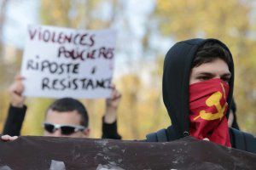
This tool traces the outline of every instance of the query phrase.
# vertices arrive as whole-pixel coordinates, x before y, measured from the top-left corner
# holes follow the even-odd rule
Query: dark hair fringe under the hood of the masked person
[[[204,63],[212,62],[215,59],[223,59],[227,65],[230,65],[231,55],[221,44],[215,41],[208,41],[198,49],[192,68]]]

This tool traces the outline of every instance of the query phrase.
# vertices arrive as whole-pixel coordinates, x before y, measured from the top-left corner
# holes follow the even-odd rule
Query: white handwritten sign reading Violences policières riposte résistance
[[[113,30],[28,26],[21,66],[24,95],[110,97],[115,39]]]

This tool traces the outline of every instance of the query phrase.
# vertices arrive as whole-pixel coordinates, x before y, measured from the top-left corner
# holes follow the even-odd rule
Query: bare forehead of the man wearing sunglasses
[[[81,115],[78,111],[52,111],[49,110],[45,117],[45,122],[55,124],[70,124],[79,125],[81,122]]]

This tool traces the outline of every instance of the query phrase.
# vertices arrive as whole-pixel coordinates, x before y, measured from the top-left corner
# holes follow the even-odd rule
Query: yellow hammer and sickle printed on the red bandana
[[[222,88],[223,88],[223,84]],[[224,90],[224,88],[223,88]],[[214,94],[212,94],[206,101],[206,104],[208,107],[212,107],[215,106],[217,109],[217,113],[211,113],[211,112],[207,112],[207,111],[200,111],[199,116],[196,116],[194,118],[194,121],[196,119],[198,119],[199,117],[201,117],[201,119],[207,120],[207,121],[212,121],[212,120],[216,120],[219,118],[219,120],[221,120],[221,118],[224,116],[224,111],[226,109],[226,107],[228,106],[227,102],[225,103],[224,107],[222,107],[220,105],[220,99],[222,98],[222,94],[220,92],[215,92]]]

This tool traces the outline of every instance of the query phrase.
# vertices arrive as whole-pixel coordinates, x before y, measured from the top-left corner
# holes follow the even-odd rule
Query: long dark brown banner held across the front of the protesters
[[[0,140],[3,169],[255,169],[256,155],[186,137],[166,143],[19,137]]]

